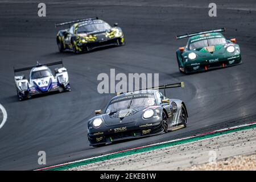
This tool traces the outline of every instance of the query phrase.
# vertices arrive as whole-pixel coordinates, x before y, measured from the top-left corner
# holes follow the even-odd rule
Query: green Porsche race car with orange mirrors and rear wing
[[[236,39],[227,40],[220,33],[223,31],[225,28],[176,36],[176,39],[189,38],[187,46],[176,51],[180,72],[187,74],[241,64]]]

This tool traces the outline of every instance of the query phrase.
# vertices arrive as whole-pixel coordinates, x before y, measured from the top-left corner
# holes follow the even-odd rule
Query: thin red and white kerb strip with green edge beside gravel
[[[68,163],[63,163],[63,164],[57,164],[57,165],[55,165],[55,166],[50,166],[50,167],[35,169],[35,171],[47,170],[47,169],[51,169],[51,168],[55,168],[55,167],[65,166],[65,165],[72,164],[72,163],[83,162],[83,161],[85,161],[85,160],[102,158],[102,157],[104,157],[104,156],[109,156],[109,155],[113,155],[113,154],[118,154],[118,153],[121,153],[121,152],[132,151],[132,150],[138,150],[138,149],[140,149],[140,148],[146,148],[146,147],[156,146],[156,145],[159,145],[159,144],[170,143],[170,142],[176,142],[176,141],[179,141],[179,140],[184,140],[184,139],[190,139],[190,138],[200,137],[200,136],[204,136],[204,135],[208,135],[208,134],[220,133],[220,132],[223,132],[223,131],[238,129],[238,128],[240,128],[240,127],[251,126],[251,125],[256,125],[256,122],[250,122],[250,123],[246,123],[246,124],[244,124],[244,125],[238,125],[238,126],[228,127],[228,128],[225,128],[225,129],[214,130],[214,131],[210,131],[210,132],[203,133],[203,134],[193,135],[193,136],[191,136],[191,137],[179,138],[179,139],[175,139],[175,140],[169,140],[169,141],[166,141],[166,142],[159,142],[159,143],[149,144],[149,145],[146,145],[146,146],[141,146],[141,147],[136,147],[136,148],[130,148],[130,149],[127,149],[127,150],[121,150],[121,151],[117,151],[117,152],[112,152],[112,153],[109,153],[109,154],[100,155],[100,156],[95,156],[95,157],[92,157],[92,158],[86,158],[86,159],[76,160],[76,161],[73,161],[73,162],[68,162]]]

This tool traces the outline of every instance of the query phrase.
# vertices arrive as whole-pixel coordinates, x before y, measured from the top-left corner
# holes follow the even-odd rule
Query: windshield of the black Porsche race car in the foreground
[[[155,98],[152,95],[151,97],[125,97],[121,100],[111,101],[109,106],[106,109],[106,113],[113,113],[122,109],[131,109],[134,107],[143,107],[143,106],[153,106],[155,105]]]

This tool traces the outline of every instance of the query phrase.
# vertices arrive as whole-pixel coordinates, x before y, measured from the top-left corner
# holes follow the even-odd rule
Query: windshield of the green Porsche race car
[[[216,46],[220,44],[226,44],[226,39],[224,38],[214,38],[214,39],[205,39],[205,40],[200,40],[195,43],[191,43],[189,45],[189,49],[199,49],[203,47],[208,47],[208,46]]]

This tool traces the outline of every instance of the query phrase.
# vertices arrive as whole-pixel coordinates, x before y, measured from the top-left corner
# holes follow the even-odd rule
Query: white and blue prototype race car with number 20
[[[49,66],[52,65],[62,65],[62,67],[55,68],[55,74],[53,75],[51,69],[49,69]],[[31,70],[28,79],[24,75],[16,76],[17,72],[27,70]],[[14,80],[20,101],[38,94],[71,91],[68,72],[63,67],[62,61],[48,64],[38,63],[35,67],[14,69]]]

